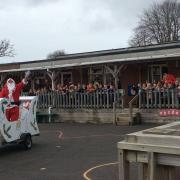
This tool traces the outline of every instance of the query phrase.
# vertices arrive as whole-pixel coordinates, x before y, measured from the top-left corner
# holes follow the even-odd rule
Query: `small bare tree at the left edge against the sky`
[[[0,41],[0,57],[4,56],[14,56],[14,47],[10,44],[10,41],[6,39]]]

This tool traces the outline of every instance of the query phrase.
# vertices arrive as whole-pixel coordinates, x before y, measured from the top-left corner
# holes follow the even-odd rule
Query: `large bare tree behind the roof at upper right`
[[[166,0],[162,4],[154,3],[145,10],[130,46],[146,46],[162,44],[180,39],[180,3],[176,0]]]

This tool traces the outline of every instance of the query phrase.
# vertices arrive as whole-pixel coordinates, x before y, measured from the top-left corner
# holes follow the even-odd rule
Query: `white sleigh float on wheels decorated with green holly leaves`
[[[0,98],[0,144],[22,143],[25,149],[32,147],[32,136],[39,135],[36,121],[36,96],[21,96],[19,118],[8,121],[6,118],[7,99]]]

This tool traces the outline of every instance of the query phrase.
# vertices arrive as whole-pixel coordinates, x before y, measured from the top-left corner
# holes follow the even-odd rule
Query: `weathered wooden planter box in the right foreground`
[[[118,142],[119,180],[129,180],[129,163],[139,164],[138,180],[180,179],[180,122],[139,131]]]

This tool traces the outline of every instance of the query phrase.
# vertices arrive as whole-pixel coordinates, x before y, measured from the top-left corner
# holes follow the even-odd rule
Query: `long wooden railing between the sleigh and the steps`
[[[94,93],[68,93],[59,92],[39,93],[37,108],[123,108],[123,90],[116,92],[94,92]]]

